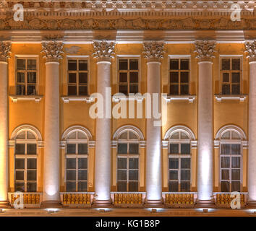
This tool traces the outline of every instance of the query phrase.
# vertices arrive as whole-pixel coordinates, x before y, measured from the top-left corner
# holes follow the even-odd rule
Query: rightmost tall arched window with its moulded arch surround
[[[216,139],[220,141],[221,192],[241,191],[244,131],[238,126],[224,126],[217,132]]]

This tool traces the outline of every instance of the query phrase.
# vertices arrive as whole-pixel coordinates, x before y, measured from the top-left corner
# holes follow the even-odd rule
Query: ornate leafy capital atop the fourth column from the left
[[[164,42],[162,41],[148,41],[143,43],[144,58],[148,58],[148,62],[161,62],[164,53]]]

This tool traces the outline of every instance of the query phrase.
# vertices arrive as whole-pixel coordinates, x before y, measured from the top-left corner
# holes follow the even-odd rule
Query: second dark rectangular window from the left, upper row
[[[88,95],[88,60],[67,61],[68,95]]]

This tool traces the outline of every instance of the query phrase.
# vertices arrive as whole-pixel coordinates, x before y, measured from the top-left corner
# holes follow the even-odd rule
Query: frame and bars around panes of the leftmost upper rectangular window
[[[17,60],[18,59],[25,59],[26,60],[26,69],[22,71],[17,70]],[[27,95],[27,59],[35,59],[36,61],[36,69],[33,72],[36,72],[36,83],[35,83],[35,95]],[[20,95],[23,97],[33,97],[39,95],[39,56],[38,55],[15,55],[15,63],[14,63],[14,71],[15,71],[15,95],[17,95],[17,73],[18,72],[25,72],[25,95]],[[32,70],[31,70],[32,71]],[[28,71],[30,72],[30,71]]]

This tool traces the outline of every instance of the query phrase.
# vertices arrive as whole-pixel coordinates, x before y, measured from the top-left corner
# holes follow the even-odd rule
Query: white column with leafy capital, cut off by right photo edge
[[[256,206],[256,40],[245,43],[249,53],[249,154],[248,154],[248,204]]]

